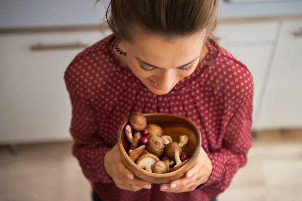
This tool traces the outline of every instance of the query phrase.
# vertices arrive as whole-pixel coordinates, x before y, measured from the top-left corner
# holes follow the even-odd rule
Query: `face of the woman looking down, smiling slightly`
[[[163,95],[194,72],[203,43],[202,34],[173,41],[154,36],[125,42],[124,49],[132,72],[150,91]]]

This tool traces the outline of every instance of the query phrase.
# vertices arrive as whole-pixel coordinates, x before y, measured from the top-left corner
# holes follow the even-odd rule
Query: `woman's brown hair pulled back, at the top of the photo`
[[[218,0],[111,0],[107,22],[117,38],[131,41],[131,28],[168,39],[206,31],[217,24]]]

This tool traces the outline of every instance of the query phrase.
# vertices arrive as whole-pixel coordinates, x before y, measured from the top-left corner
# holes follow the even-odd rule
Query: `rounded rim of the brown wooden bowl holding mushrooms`
[[[176,117],[176,118],[180,118],[180,119],[182,119],[182,120],[184,120],[184,121],[187,121],[187,122],[189,122],[190,124],[192,124],[192,125],[194,126],[195,130],[197,131],[197,134],[198,134],[197,140],[198,140],[198,142],[197,142],[197,148],[196,148],[194,154],[190,157],[189,160],[187,160],[186,164],[188,164],[189,161],[190,161],[192,158],[195,158],[195,160],[197,159],[197,156],[198,156],[198,154],[199,154],[199,153],[197,153],[197,152],[200,151],[201,140],[202,140],[202,139],[201,139],[200,130],[199,130],[198,126],[195,124],[195,122],[193,122],[192,120],[190,120],[190,119],[188,119],[188,118],[186,118],[186,117],[184,117],[184,116],[173,115],[173,114],[169,114],[169,113],[142,113],[142,115],[145,116],[145,117],[146,117],[146,116],[170,116],[170,117]],[[136,165],[136,163],[133,162],[133,161],[130,159],[129,155],[127,154],[127,152],[126,152],[125,149],[123,148],[123,144],[122,144],[122,140],[121,140],[122,129],[127,125],[127,122],[128,122],[128,121],[129,121],[129,117],[128,117],[126,120],[124,120],[124,121],[122,122],[122,124],[120,125],[120,127],[119,127],[119,129],[118,129],[118,139],[117,139],[118,149],[120,150],[120,153],[121,153],[122,156],[125,158],[125,160],[128,161],[128,163],[130,163],[131,165],[133,165],[133,166],[135,167],[135,169],[137,169],[138,171],[140,171],[140,172],[142,172],[142,173],[144,173],[144,174],[146,174],[146,175],[148,175],[148,176],[150,176],[150,177],[158,177],[159,175],[161,175],[161,178],[166,178],[166,177],[174,176],[174,175],[176,175],[176,174],[178,174],[178,173],[181,173],[182,171],[185,170],[186,164],[184,164],[181,168],[179,168],[179,169],[177,169],[177,170],[175,170],[175,171],[173,171],[173,172],[168,172],[168,173],[153,173],[153,172],[148,172],[148,171],[146,171],[146,170],[144,170],[144,169],[138,167],[138,166]],[[196,155],[197,155],[197,156],[196,156]]]

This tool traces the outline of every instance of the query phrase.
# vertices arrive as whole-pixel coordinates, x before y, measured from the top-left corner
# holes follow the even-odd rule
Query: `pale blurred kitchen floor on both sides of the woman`
[[[0,201],[88,201],[90,185],[71,143],[0,147]],[[302,200],[302,130],[261,132],[223,200]]]

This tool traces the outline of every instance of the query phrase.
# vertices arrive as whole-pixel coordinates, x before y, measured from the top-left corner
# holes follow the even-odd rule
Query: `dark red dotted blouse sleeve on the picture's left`
[[[72,68],[67,68],[64,80],[72,108],[69,131],[74,140],[73,155],[78,159],[84,175],[90,182],[113,183],[104,167],[104,156],[110,148],[105,146],[98,134],[98,123],[89,96],[85,86],[79,81],[80,76],[77,77],[76,73],[73,73],[76,70]],[[78,81],[75,82],[75,79]]]

